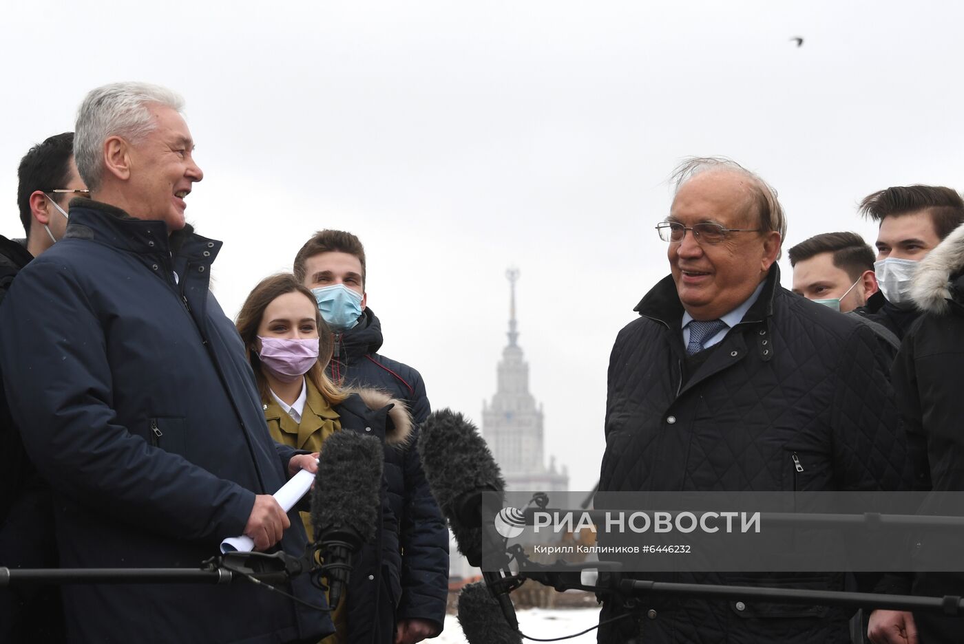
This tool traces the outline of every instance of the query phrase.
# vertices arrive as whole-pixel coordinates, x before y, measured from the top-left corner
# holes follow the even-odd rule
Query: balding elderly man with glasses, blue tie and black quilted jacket
[[[787,225],[776,192],[726,159],[691,159],[675,180],[656,226],[671,274],[636,306],[610,358],[600,491],[905,488],[886,356],[866,326],[780,286]],[[844,589],[843,574],[756,581]],[[601,622],[620,615],[631,618],[604,624],[600,642],[849,641],[850,611],[835,606],[608,599]]]

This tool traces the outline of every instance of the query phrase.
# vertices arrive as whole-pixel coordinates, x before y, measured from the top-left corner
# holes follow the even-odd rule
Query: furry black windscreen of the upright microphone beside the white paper
[[[382,442],[348,429],[325,439],[311,493],[311,525],[317,541],[331,529],[351,529],[365,543],[375,538],[382,513]]]

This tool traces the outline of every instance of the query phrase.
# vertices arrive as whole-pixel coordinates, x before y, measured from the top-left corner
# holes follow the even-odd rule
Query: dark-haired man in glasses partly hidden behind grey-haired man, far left
[[[17,167],[16,203],[25,240],[0,236],[0,301],[13,278],[64,236],[67,202],[87,193],[73,162],[73,132],[34,145]],[[37,471],[13,425],[0,389],[0,566],[57,566],[50,487]],[[64,616],[56,586],[11,588],[0,595],[0,641],[64,639]]]

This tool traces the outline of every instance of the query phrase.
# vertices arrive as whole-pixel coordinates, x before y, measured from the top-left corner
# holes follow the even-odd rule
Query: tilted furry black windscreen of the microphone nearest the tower
[[[448,519],[459,551],[466,555],[480,552],[482,530],[477,525],[466,525],[460,516],[460,505],[465,504],[469,493],[505,490],[505,480],[492,451],[478,429],[451,409],[429,414],[419,431],[422,469],[432,496]]]

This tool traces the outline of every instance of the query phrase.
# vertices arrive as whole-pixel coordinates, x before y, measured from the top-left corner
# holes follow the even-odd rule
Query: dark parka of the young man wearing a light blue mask
[[[415,369],[378,353],[382,324],[365,308],[354,328],[335,335],[329,374],[345,386],[375,387],[403,400],[415,425],[431,408],[425,383]],[[417,427],[405,449],[388,447],[385,475],[388,500],[399,518],[402,557],[402,597],[396,620],[424,619],[442,630],[448,594],[448,528],[438,503],[429,492],[416,445]]]

